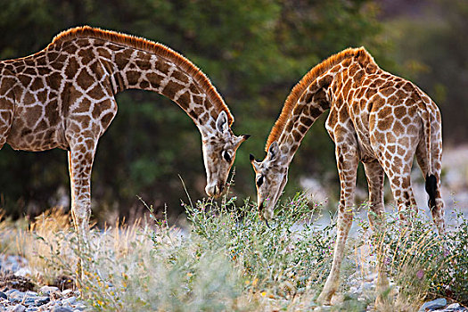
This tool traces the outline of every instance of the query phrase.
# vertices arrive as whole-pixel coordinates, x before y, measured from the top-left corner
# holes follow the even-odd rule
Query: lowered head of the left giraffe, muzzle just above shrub
[[[236,136],[228,125],[225,111],[216,120],[214,134],[202,140],[203,161],[207,172],[205,192],[218,198],[226,191],[226,180],[233,166],[235,151],[250,135]]]

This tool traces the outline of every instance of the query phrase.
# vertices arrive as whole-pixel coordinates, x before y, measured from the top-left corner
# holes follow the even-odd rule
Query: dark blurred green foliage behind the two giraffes
[[[291,87],[318,62],[365,45],[384,70],[412,79],[439,104],[444,143],[468,134],[468,3],[464,0],[2,0],[0,59],[35,53],[79,25],[146,37],[183,53],[212,80],[234,114],[234,132],[252,135],[235,160],[238,198],[255,196],[248,154],[264,156],[270,128]],[[117,95],[119,113],[98,145],[92,177],[99,222],[144,211],[144,201],[181,212],[184,180],[204,196],[201,139],[193,122],[159,94]],[[290,169],[286,195],[315,177],[338,196],[333,144],[324,116],[309,131]],[[0,207],[13,217],[70,205],[65,151],[0,156]],[[365,185],[364,175],[359,184]]]

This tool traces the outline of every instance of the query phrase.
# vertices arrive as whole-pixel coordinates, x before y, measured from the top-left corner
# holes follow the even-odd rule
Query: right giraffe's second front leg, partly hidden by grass
[[[383,206],[383,181],[385,174],[381,164],[377,160],[365,163],[364,168],[369,186],[369,223],[374,233],[380,237],[385,232],[385,209]],[[389,288],[385,258],[385,254],[380,255],[378,258],[377,294],[382,294],[383,291]]]

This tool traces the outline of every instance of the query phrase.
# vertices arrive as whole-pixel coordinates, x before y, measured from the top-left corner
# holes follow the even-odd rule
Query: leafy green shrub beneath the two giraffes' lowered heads
[[[242,271],[246,290],[265,292],[271,297],[289,298],[306,291],[308,285],[324,283],[330,269],[335,226],[320,229],[314,225],[318,206],[308,207],[308,199],[298,193],[275,213],[267,227],[259,220],[257,208],[235,198],[197,201],[185,205],[192,232],[209,250],[224,250]]]

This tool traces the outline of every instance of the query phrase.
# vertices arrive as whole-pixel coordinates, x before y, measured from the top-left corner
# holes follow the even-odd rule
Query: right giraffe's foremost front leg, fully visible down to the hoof
[[[352,144],[337,144],[336,157],[340,175],[341,194],[338,207],[337,237],[333,250],[333,264],[326,279],[324,290],[317,298],[321,304],[330,304],[340,283],[340,268],[346,239],[353,220],[354,191],[357,176],[357,148]]]

